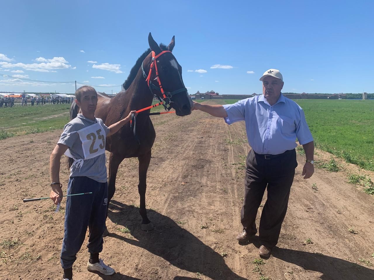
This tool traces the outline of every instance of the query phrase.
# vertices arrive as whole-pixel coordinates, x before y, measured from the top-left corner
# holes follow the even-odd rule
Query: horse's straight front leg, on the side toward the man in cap
[[[151,151],[138,157],[139,159],[139,185],[138,191],[140,195],[140,209],[139,213],[142,217],[141,229],[144,231],[153,230],[153,224],[147,217],[147,210],[145,209],[145,190],[147,189],[147,170],[151,161]]]

